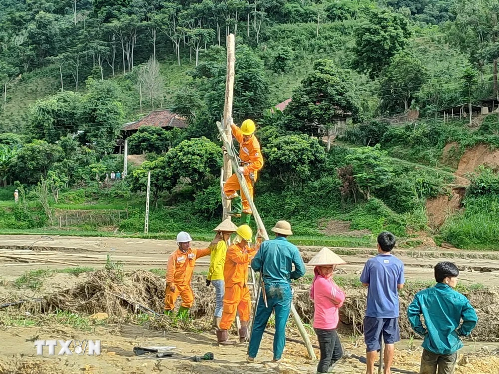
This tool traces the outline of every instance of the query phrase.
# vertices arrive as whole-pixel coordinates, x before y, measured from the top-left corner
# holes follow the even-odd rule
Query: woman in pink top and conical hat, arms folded
[[[331,373],[331,369],[343,356],[336,327],[345,293],[334,283],[333,271],[336,265],[345,263],[329,248],[322,248],[307,264],[315,266],[310,297],[314,301],[313,327],[320,347],[317,374]]]

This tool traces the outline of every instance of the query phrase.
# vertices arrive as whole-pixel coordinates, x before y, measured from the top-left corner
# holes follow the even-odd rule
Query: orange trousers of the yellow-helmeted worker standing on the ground
[[[241,322],[250,320],[251,312],[251,294],[248,286],[235,284],[225,288],[224,294],[224,311],[222,312],[222,320],[220,321],[221,330],[229,330],[236,312],[239,313]]]

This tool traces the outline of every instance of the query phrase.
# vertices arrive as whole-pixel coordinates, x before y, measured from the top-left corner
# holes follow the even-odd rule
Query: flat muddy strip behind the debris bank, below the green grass
[[[198,248],[207,245],[193,242]],[[26,271],[43,268],[99,268],[105,264],[108,254],[112,260],[123,262],[125,270],[165,268],[169,254],[175,249],[173,240],[0,235],[0,278],[13,279]],[[306,261],[320,248],[300,247],[300,250]],[[366,260],[375,253],[373,248],[339,248],[337,252],[347,261],[347,265],[341,267],[341,274],[352,277],[358,276]],[[499,286],[499,252],[423,247],[397,249],[394,253],[405,264],[406,279],[433,281],[432,267],[442,258],[452,258],[462,271],[463,282]],[[197,264],[197,271],[207,270],[209,257],[199,259]]]

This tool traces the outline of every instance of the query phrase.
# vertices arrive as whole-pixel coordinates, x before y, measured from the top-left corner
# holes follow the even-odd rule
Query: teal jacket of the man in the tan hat
[[[265,285],[290,284],[291,279],[298,279],[305,275],[305,264],[300,251],[283,237],[261,243],[260,250],[251,262],[251,267],[254,271],[262,272]]]

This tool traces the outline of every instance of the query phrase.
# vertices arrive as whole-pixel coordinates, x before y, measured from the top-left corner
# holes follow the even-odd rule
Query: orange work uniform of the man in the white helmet
[[[182,306],[192,307],[194,303],[194,293],[191,288],[191,278],[196,260],[210,254],[210,248],[193,249],[182,252],[179,248],[168,258],[166,268],[166,289],[165,289],[165,310],[173,310],[177,298],[182,298]],[[174,285],[175,291],[170,287]]]

